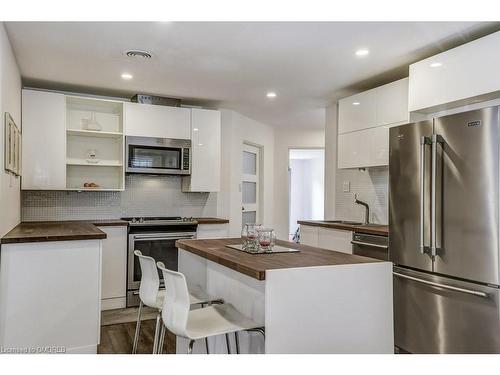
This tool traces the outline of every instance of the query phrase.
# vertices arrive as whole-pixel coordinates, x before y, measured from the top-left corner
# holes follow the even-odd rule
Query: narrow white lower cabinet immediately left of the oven
[[[127,295],[127,227],[101,226],[107,237],[102,240],[101,309],[126,306]]]

